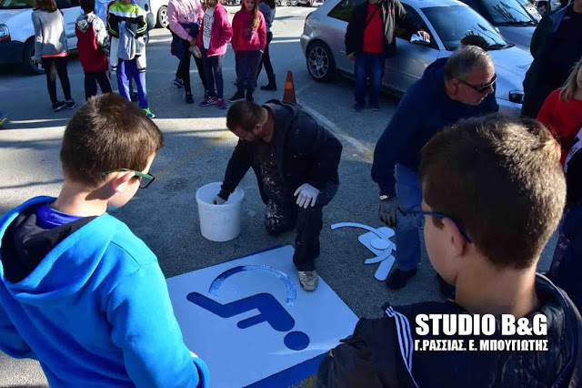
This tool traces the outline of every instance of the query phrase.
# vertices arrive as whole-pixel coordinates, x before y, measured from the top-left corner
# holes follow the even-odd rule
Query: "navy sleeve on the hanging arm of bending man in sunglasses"
[[[409,148],[410,139],[422,126],[421,102],[413,93],[406,93],[396,108],[396,113],[376,143],[374,163],[372,164],[372,180],[380,187],[380,194],[388,197],[396,196],[396,178],[394,168],[400,155],[414,152]]]

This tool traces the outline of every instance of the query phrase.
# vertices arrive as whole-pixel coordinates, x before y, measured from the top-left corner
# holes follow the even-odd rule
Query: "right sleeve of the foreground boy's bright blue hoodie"
[[[157,261],[141,266],[115,286],[107,319],[136,386],[208,386],[206,364],[186,348]]]

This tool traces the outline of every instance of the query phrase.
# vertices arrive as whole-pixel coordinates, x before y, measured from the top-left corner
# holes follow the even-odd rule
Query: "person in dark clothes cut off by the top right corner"
[[[582,56],[582,0],[544,15],[531,38],[534,56],[524,79],[521,114],[536,118],[547,96],[562,87]]]

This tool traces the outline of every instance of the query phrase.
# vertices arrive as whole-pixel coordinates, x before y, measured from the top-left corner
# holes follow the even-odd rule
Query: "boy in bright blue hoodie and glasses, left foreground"
[[[0,350],[38,360],[52,387],[206,387],[156,256],[117,209],[146,189],[164,138],[123,97],[89,99],[65,129],[58,198],[0,220]]]

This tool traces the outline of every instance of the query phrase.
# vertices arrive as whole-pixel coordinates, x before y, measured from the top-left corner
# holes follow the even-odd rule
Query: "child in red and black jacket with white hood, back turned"
[[[85,100],[97,94],[97,83],[101,93],[112,91],[107,77],[107,54],[109,54],[109,37],[103,21],[95,15],[95,0],[81,0],[81,9],[85,15],[76,19],[76,48],[79,52],[81,66],[85,71]]]

